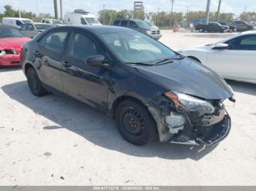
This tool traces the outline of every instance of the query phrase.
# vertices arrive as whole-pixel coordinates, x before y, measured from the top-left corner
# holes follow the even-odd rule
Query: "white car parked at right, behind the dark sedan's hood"
[[[177,52],[203,63],[225,79],[256,84],[256,31],[246,31],[214,44]]]

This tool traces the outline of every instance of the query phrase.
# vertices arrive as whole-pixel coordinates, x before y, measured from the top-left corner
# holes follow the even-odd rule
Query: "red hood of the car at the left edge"
[[[17,51],[20,51],[21,45],[23,45],[24,42],[28,42],[29,38],[27,37],[21,37],[21,38],[0,38],[0,47],[4,50],[12,49],[14,48]]]

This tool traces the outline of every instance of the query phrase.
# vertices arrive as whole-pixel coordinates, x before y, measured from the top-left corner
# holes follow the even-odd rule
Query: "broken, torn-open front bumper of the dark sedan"
[[[165,98],[148,105],[157,122],[159,141],[175,144],[214,145],[230,132],[230,116],[224,106],[213,113],[198,111],[178,112]]]

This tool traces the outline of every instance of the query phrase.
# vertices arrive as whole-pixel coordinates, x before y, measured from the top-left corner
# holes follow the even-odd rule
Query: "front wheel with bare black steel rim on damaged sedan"
[[[116,109],[116,125],[121,136],[135,145],[145,145],[157,138],[157,125],[146,106],[125,100]]]

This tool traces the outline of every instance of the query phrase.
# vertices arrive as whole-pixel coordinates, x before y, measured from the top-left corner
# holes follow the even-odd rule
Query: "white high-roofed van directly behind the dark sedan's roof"
[[[64,15],[64,23],[67,25],[102,25],[94,15],[83,9],[75,9]]]

